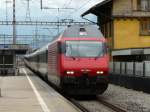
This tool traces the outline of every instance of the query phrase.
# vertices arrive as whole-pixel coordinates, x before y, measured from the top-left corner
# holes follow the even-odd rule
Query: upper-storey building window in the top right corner
[[[150,11],[150,0],[138,0],[138,9],[141,11]]]

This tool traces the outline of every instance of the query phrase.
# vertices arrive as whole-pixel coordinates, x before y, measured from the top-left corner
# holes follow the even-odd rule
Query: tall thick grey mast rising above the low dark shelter
[[[16,44],[16,1],[13,0],[13,44]]]

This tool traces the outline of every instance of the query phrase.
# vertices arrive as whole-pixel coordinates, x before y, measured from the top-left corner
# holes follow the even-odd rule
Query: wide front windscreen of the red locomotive
[[[101,57],[104,55],[103,45],[97,41],[66,41],[66,56]]]

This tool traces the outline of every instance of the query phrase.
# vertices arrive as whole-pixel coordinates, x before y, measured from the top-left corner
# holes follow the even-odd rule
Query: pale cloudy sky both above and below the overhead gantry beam
[[[0,21],[6,20],[6,0],[0,0]],[[12,20],[12,1],[7,4],[8,20]],[[73,8],[70,10],[60,9],[40,9],[40,0],[30,0],[30,14],[31,20],[39,21],[57,21],[61,19],[74,19],[75,21],[83,21],[80,15],[88,10],[90,7],[103,0],[42,0],[43,7],[49,8]],[[27,0],[16,0],[16,20],[25,20],[27,12]],[[90,19],[95,20],[95,16],[90,16]],[[38,27],[39,34],[49,34],[50,32],[44,30],[43,27]],[[61,29],[63,30],[63,29]],[[35,26],[33,27],[19,27],[17,26],[17,34],[33,34]],[[0,34],[12,34],[12,27],[0,26]],[[54,34],[55,35],[55,34]]]

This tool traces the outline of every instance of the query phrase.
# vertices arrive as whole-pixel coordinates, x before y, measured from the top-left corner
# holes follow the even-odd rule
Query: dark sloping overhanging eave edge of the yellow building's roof
[[[111,2],[111,1],[112,1],[112,0],[104,0],[104,1],[102,1],[102,2],[100,2],[100,3],[98,3],[98,4],[96,4],[95,6],[91,7],[89,10],[87,10],[86,12],[84,12],[81,16],[83,17],[83,16],[85,16],[85,15],[87,15],[87,14],[89,14],[89,13],[92,13],[96,8],[101,7],[101,6],[103,6],[103,5],[105,5],[106,3]]]

